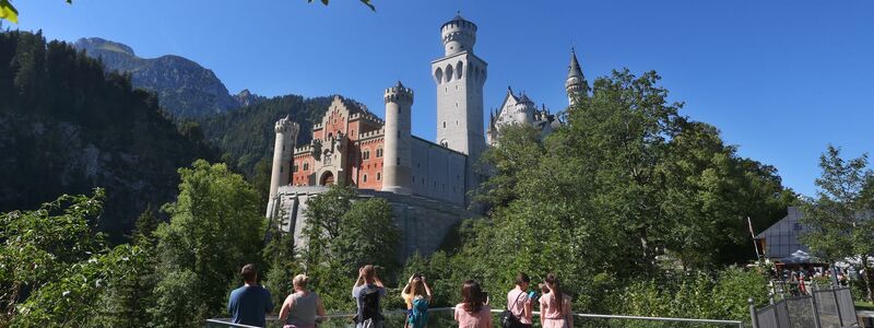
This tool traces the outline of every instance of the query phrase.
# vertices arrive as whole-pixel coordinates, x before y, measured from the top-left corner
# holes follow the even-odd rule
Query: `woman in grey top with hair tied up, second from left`
[[[285,297],[280,309],[283,328],[316,328],[316,315],[324,316],[324,305],[318,294],[307,290],[309,277],[297,274],[292,280],[294,292]]]

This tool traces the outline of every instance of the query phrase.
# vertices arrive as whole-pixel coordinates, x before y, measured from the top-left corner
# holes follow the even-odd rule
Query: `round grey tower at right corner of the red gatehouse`
[[[411,108],[413,91],[398,85],[386,89],[386,134],[382,155],[382,191],[412,192]]]

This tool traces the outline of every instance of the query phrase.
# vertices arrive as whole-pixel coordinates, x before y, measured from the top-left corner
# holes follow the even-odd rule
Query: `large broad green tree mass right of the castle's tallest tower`
[[[680,115],[659,79],[627,70],[598,79],[568,109],[569,125],[543,140],[530,127],[501,127],[483,156],[493,174],[479,199],[489,215],[465,234],[453,270],[491,291],[511,288],[518,271],[556,272],[577,308],[604,312],[640,277],[749,259],[745,218],[772,222],[794,194],[714,127]]]

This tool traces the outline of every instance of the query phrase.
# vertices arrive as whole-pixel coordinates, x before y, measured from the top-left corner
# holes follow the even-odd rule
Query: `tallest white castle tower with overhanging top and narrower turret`
[[[479,185],[473,164],[485,150],[483,84],[487,63],[473,55],[476,24],[457,15],[440,27],[445,56],[432,61],[437,83],[437,143],[468,155],[466,190]]]

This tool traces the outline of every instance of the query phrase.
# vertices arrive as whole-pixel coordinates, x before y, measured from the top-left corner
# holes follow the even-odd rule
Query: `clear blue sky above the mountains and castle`
[[[12,2],[22,30],[180,55],[232,93],[339,93],[382,115],[382,90],[401,80],[416,92],[413,131],[430,140],[429,62],[442,54],[440,24],[461,10],[489,63],[486,108],[508,85],[566,106],[576,46],[590,80],[623,67],[658,71],[684,115],[717,126],[799,192],[815,192],[827,144],[847,156],[874,150],[874,1],[374,0],[377,12],[356,0]]]

